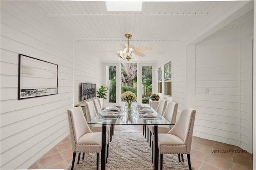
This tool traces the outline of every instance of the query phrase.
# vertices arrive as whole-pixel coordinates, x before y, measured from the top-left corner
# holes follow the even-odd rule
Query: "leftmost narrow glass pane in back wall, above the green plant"
[[[109,102],[116,103],[116,66],[108,67]]]

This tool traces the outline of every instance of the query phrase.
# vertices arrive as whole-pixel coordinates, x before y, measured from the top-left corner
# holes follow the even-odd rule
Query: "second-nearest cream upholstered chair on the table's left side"
[[[86,114],[88,115],[88,117],[87,117],[88,121],[92,120],[92,118],[94,118],[98,114],[96,112],[96,109],[94,107],[94,103],[92,101],[86,102],[85,103],[85,108],[86,108]],[[100,124],[90,125],[90,129],[93,132],[102,132],[102,125],[100,125]],[[110,141],[112,141],[111,125],[107,125],[106,131],[108,132],[108,134],[110,134],[109,139],[110,139]]]

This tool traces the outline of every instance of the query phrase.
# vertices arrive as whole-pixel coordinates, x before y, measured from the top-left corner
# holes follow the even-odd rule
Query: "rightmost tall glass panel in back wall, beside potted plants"
[[[142,103],[149,103],[152,94],[152,66],[142,66]]]

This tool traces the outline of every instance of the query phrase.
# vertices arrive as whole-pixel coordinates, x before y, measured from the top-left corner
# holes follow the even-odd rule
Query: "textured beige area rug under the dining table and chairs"
[[[79,164],[77,164],[77,158],[78,153],[76,154],[74,170],[96,169],[96,153],[85,153],[84,160],[82,160],[81,154]],[[142,132],[115,131],[112,142],[110,142],[109,145],[109,156],[108,163],[106,164],[106,170],[154,170],[154,164],[151,162],[151,148],[149,147],[147,139],[142,135]],[[71,169],[71,164],[72,162],[70,162],[66,170]],[[163,169],[189,169],[187,156],[184,155],[184,162],[179,162],[177,154],[164,154]]]

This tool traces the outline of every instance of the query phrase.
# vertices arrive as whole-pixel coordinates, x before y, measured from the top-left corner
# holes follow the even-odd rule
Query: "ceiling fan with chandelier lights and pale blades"
[[[132,53],[134,55],[138,55],[140,57],[144,57],[145,55],[139,51],[152,50],[152,47],[134,47],[129,44],[129,39],[131,39],[132,35],[125,34],[124,37],[127,38],[127,44],[121,44],[123,50],[117,51],[117,58],[122,58],[123,60],[130,60],[132,58]]]

